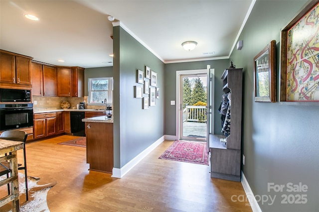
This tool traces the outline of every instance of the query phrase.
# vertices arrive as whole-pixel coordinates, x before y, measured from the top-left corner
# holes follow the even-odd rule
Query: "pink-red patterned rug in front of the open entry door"
[[[206,142],[176,140],[159,158],[208,166]]]

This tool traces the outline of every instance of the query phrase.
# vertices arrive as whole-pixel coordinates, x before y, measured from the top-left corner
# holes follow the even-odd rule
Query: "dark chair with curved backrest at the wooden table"
[[[27,136],[28,135],[26,132],[20,131],[20,130],[6,130],[0,134],[0,139],[24,142],[24,148],[23,148],[24,166],[21,166],[21,164],[18,164],[18,170],[24,170],[26,201],[28,201],[28,199],[29,199],[28,198],[28,178],[27,178],[27,174],[26,174],[26,157],[25,157],[25,141],[26,141]],[[2,171],[0,171],[0,175],[6,174],[8,177],[8,173],[10,171],[8,169],[3,169],[3,165],[4,165],[3,163],[0,165],[2,165]],[[8,192],[9,192],[9,188],[8,188]]]

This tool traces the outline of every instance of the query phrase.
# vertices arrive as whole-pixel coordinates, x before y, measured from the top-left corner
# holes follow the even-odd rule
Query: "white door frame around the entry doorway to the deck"
[[[180,110],[182,108],[182,104],[180,103],[180,75],[196,75],[196,74],[207,74],[207,69],[197,69],[197,70],[183,70],[176,71],[176,140],[180,139]],[[207,75],[207,78],[209,76]],[[207,139],[207,138],[206,138]]]

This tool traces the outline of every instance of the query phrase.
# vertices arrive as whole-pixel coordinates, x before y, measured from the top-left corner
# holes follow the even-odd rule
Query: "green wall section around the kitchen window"
[[[88,96],[88,78],[113,77],[113,67],[87,68],[84,70],[84,96]]]

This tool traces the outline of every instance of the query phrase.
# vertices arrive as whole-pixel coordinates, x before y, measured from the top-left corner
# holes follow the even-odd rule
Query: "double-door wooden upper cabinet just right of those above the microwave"
[[[31,64],[32,96],[57,96],[57,69],[41,63]]]

